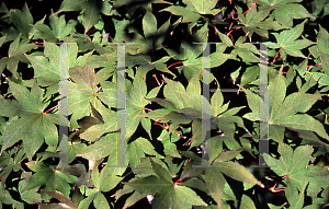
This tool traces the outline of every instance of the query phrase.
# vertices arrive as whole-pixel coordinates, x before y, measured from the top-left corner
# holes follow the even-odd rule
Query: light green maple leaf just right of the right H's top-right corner
[[[272,33],[275,38],[276,38],[276,44],[271,44],[269,45],[270,48],[281,48],[281,56],[285,59],[286,55],[291,55],[293,57],[303,57],[306,58],[300,49],[306,48],[314,43],[303,38],[303,39],[297,39],[304,30],[304,24],[306,21],[303,23],[296,25],[294,28],[283,31],[280,34],[277,33]]]

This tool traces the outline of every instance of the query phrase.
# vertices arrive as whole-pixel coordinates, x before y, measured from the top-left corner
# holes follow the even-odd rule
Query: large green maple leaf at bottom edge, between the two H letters
[[[179,185],[180,183],[173,183],[168,169],[164,169],[151,159],[150,162],[155,175],[134,178],[126,183],[126,185],[144,195],[154,195],[158,193],[158,196],[152,201],[155,208],[192,209],[192,206],[207,206],[194,190],[186,186]]]

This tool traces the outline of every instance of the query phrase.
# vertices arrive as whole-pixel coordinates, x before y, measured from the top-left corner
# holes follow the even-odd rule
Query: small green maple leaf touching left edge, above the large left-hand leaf
[[[29,60],[26,60],[24,53],[37,48],[37,45],[35,44],[27,44],[26,42],[21,39],[21,34],[15,38],[13,43],[10,44],[9,50],[8,50],[8,57],[3,57],[0,60],[0,73],[2,73],[3,69],[7,67],[9,71],[11,71],[15,79],[20,78],[20,74],[18,73],[18,66],[20,61],[29,63]]]

